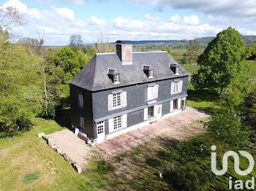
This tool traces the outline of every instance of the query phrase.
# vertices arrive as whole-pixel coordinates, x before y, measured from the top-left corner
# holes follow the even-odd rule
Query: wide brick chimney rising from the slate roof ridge
[[[120,58],[122,65],[132,64],[132,44],[122,44],[121,41],[117,41],[116,55]]]

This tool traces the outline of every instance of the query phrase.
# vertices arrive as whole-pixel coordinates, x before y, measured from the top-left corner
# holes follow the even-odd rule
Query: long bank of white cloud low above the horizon
[[[137,0],[143,1],[143,0]],[[183,0],[180,0],[183,1]],[[231,1],[231,0],[228,0]],[[160,2],[160,1],[158,1]],[[157,4],[157,1],[154,1]],[[197,15],[170,15],[170,18],[153,17],[146,14],[142,19],[115,17],[105,20],[91,15],[88,18],[75,17],[74,11],[67,7],[50,7],[50,9],[29,9],[18,0],[4,4],[15,6],[28,20],[25,26],[14,28],[13,34],[37,38],[37,32],[45,34],[48,45],[65,45],[72,34],[81,34],[83,42],[94,42],[97,36],[105,34],[110,41],[117,39],[194,39],[202,36],[214,36],[232,23],[242,34],[255,34],[252,20],[230,18],[223,15],[208,15],[199,19]],[[159,6],[159,4],[157,4]]]

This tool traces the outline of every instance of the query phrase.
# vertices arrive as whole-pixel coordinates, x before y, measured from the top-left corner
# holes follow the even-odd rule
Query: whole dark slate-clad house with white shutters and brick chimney
[[[72,128],[99,143],[177,114],[186,109],[188,76],[167,52],[132,52],[118,41],[69,82]]]

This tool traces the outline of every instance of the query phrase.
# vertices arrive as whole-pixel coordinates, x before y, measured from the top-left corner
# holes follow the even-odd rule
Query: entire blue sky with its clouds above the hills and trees
[[[99,36],[117,39],[194,39],[214,36],[233,26],[241,34],[255,35],[254,0],[9,0],[27,21],[12,34],[37,38],[46,44],[65,45],[80,34],[83,42]]]

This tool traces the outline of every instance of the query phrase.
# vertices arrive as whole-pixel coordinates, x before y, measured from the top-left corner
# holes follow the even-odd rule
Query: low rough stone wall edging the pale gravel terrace
[[[81,174],[82,173],[82,168],[80,166],[78,166],[77,163],[73,162],[68,156],[66,153],[62,152],[61,149],[59,149],[58,147],[56,147],[56,144],[53,143],[53,141],[48,138],[48,136],[45,135],[45,133],[38,133],[37,134],[38,137],[42,137],[42,139],[45,139],[46,143],[51,147],[53,148],[56,152],[59,153],[59,155],[61,155],[62,157],[64,157],[64,160],[67,160],[67,162],[69,162],[72,167],[75,169],[75,171],[78,172],[78,174]]]

